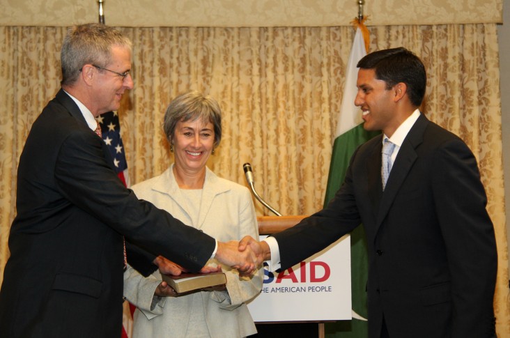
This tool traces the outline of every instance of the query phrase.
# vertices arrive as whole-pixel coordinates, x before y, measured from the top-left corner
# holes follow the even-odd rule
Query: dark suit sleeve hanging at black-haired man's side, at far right
[[[456,139],[438,150],[432,169],[435,207],[451,273],[452,337],[488,337],[494,326],[497,251],[477,161]]]

